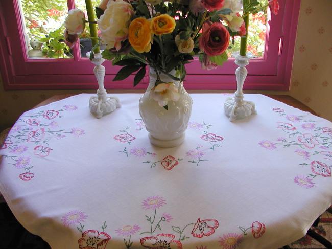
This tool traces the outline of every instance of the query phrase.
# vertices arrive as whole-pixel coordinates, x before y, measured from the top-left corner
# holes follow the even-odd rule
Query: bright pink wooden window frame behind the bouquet
[[[245,89],[289,89],[300,0],[279,0],[279,3],[277,16],[268,12],[265,56],[250,61]],[[68,0],[68,9],[74,6],[74,0]],[[93,65],[80,58],[79,44],[73,50],[73,59],[29,59],[20,15],[17,0],[0,2],[0,66],[6,90],[96,89]],[[271,26],[273,32],[269,32]],[[105,88],[144,89],[148,84],[148,75],[135,88],[132,86],[134,75],[112,82],[119,67],[111,66],[109,61],[105,61],[104,66]],[[187,89],[236,89],[233,59],[217,70],[206,71],[195,58],[186,68],[184,84]]]

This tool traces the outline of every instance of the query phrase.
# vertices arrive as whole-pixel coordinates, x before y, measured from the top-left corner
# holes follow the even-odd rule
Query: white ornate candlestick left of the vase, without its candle
[[[86,55],[90,57],[90,52]],[[107,93],[104,88],[104,77],[106,70],[102,65],[104,61],[105,59],[102,58],[101,53],[94,54],[94,58],[91,61],[96,65],[93,69],[93,72],[94,75],[96,75],[99,88],[97,90],[97,96],[92,96],[90,98],[89,106],[91,113],[98,119],[121,106],[120,100],[117,97],[107,97]]]

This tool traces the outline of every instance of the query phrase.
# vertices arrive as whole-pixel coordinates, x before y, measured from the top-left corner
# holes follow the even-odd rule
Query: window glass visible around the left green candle
[[[98,7],[101,0],[92,0],[92,6]],[[87,13],[86,13],[86,7],[85,7],[85,1],[84,0],[75,0],[75,8],[78,8],[85,13],[85,18],[87,19]],[[80,37],[80,49],[81,49],[81,57],[87,57],[86,53],[90,52],[92,49],[92,42],[91,39],[85,38],[90,36],[90,27],[88,24],[85,26],[85,30],[83,34]],[[101,49],[105,49],[105,46],[101,44]]]

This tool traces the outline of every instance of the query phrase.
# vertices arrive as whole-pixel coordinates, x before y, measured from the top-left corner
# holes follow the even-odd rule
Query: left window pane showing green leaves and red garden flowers
[[[64,43],[67,0],[20,0],[29,58],[71,58]]]

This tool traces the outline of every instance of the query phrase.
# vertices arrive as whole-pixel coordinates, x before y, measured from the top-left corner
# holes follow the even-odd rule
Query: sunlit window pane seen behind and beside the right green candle
[[[267,5],[268,0],[262,1],[262,5]],[[263,59],[265,50],[265,35],[266,35],[266,11],[267,8],[260,10],[255,15],[249,17],[249,31],[247,50],[250,51],[254,57]],[[234,38],[234,44],[230,44],[231,49],[227,50],[227,54],[230,57],[233,52],[240,50],[241,37],[236,36]]]

